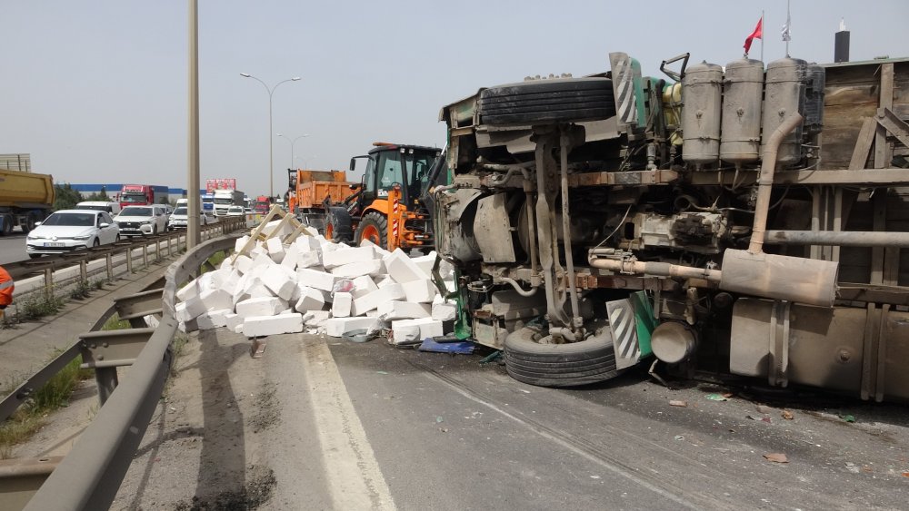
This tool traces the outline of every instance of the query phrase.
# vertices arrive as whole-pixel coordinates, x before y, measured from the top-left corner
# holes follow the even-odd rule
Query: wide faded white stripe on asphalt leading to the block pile
[[[304,374],[335,509],[387,509],[395,501],[324,340],[306,343]]]

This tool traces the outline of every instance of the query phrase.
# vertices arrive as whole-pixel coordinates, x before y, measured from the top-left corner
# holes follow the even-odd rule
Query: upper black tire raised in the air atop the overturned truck
[[[548,124],[597,121],[615,115],[608,78],[557,78],[490,87],[480,93],[482,123]]]

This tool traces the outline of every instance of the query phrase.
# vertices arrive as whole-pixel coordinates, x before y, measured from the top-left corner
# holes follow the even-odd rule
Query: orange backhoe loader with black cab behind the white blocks
[[[359,244],[369,240],[387,250],[434,246],[429,211],[420,201],[430,169],[441,150],[434,147],[375,142],[364,156],[361,186],[342,204],[328,209],[325,237]]]

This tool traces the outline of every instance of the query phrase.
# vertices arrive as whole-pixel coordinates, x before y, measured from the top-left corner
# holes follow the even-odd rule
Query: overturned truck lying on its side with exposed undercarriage
[[[909,398],[909,59],[609,67],[443,109],[460,335],[534,385],[653,359]]]

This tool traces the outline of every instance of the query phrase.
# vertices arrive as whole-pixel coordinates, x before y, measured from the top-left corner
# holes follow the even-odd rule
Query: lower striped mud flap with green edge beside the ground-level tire
[[[615,369],[630,368],[652,353],[650,335],[656,321],[644,291],[624,300],[607,301],[606,315],[613,332]]]

